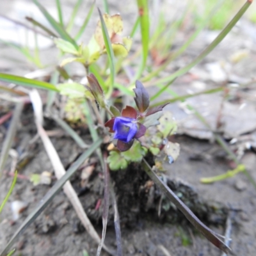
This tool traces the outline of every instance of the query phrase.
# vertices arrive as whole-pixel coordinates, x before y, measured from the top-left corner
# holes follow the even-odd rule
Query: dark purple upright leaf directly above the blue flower
[[[147,110],[149,106],[149,95],[147,90],[144,88],[143,84],[140,81],[136,80],[135,86],[136,88],[133,89],[136,95],[134,100],[140,113],[143,113]]]

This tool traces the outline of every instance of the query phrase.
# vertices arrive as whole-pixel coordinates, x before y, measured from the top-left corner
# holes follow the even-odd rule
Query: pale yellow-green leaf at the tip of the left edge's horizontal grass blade
[[[63,83],[58,84],[61,95],[67,95],[70,99],[84,98],[86,88],[79,83]]]

